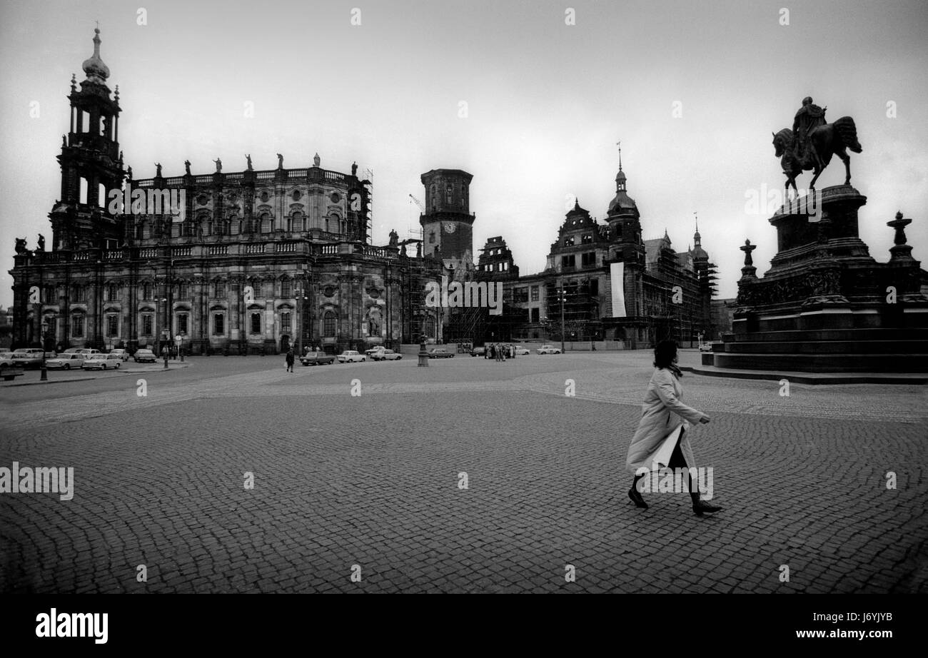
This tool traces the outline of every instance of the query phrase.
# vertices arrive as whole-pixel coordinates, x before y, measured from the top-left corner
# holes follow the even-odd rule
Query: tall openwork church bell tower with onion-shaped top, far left
[[[53,251],[115,249],[122,228],[110,213],[110,191],[122,189],[119,149],[119,87],[110,97],[110,69],[100,58],[100,31],[94,31],[94,54],[82,66],[86,78],[78,90],[71,76],[71,127],[62,135],[61,198],[48,217]],[[122,210],[122,207],[120,208]]]

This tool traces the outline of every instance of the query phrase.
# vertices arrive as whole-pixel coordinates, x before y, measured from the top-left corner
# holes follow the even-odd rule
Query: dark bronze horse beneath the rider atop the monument
[[[851,117],[841,117],[834,123],[826,123],[813,128],[809,131],[806,142],[805,157],[800,159],[798,140],[791,129],[783,128],[779,133],[773,134],[774,152],[780,158],[783,174],[786,174],[787,196],[791,185],[796,194],[799,194],[799,190],[796,189],[796,176],[809,170],[815,172],[812,182],[809,183],[809,189],[815,189],[815,182],[831,162],[832,155],[844,161],[844,170],[847,174],[844,178],[844,185],[851,184],[851,157],[847,155],[844,148],[850,148],[854,153],[863,150],[857,141],[857,126]]]

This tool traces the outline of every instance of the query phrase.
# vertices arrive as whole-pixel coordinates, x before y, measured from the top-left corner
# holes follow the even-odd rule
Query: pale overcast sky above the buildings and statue
[[[138,5],[147,10],[139,25]],[[575,24],[567,25],[572,7]],[[789,25],[781,25],[781,7]],[[353,9],[360,25],[352,25]],[[357,16],[356,12],[354,14]],[[719,291],[736,294],[745,238],[766,271],[768,213],[745,194],[783,184],[772,131],[803,97],[854,117],[868,197],[861,237],[886,261],[897,210],[928,261],[928,3],[916,2],[33,2],[0,6],[0,304],[15,237],[45,233],[58,199],[71,73],[93,52],[120,86],[121,148],[136,178],[311,164],[374,181],[374,242],[418,228],[419,174],[473,174],[474,249],[502,235],[542,270],[574,194],[605,216],[622,141],[644,238],[686,249],[699,213]],[[38,102],[39,116],[31,110]],[[466,117],[461,117],[461,101]],[[245,116],[253,103],[254,115]],[[895,117],[887,116],[893,103]],[[676,110],[676,112],[675,112]],[[677,116],[675,116],[675,113]],[[810,174],[799,179],[806,187]],[[835,159],[818,187],[844,182]]]

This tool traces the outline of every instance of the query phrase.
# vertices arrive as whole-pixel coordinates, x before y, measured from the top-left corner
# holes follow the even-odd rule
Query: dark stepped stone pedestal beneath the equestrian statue
[[[877,263],[858,236],[867,202],[851,186],[780,209],[777,255],[756,277],[750,244],[738,282],[732,333],[702,363],[802,372],[928,372],[928,298],[901,213],[896,246]]]

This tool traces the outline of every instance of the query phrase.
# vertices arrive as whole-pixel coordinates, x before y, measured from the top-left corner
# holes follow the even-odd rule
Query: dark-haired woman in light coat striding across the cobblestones
[[[693,471],[689,468],[695,466],[692,446],[687,431],[690,423],[707,423],[709,417],[691,406],[683,404],[683,389],[680,379],[683,373],[677,368],[677,343],[662,341],[654,348],[654,373],[648,383],[648,390],[641,406],[641,420],[638,422],[638,431],[628,446],[628,457],[625,466],[635,475],[632,488],[628,490],[628,497],[635,505],[643,510],[648,504],[641,496],[638,481],[646,477],[647,473],[640,469],[653,470],[658,466],[668,469],[687,469],[688,486],[692,498],[693,512],[702,516],[703,512],[715,512],[722,508],[710,505],[700,500],[699,488],[693,481]],[[664,447],[664,441],[676,434],[677,428],[683,426],[679,432],[676,445],[666,464],[658,463],[658,452]]]

